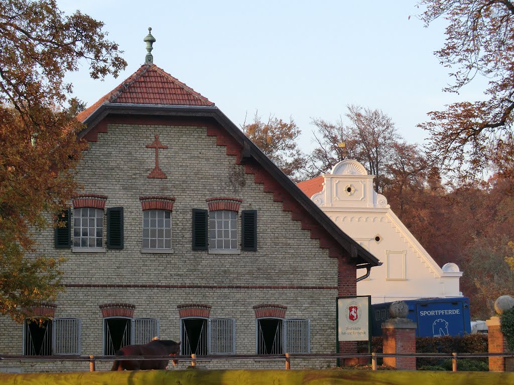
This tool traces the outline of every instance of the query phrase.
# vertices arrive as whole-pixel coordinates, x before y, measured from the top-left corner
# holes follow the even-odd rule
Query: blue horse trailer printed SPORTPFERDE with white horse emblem
[[[463,336],[471,333],[469,298],[419,298],[406,300],[407,318],[416,322],[416,337]],[[392,302],[371,305],[372,335],[382,335]]]

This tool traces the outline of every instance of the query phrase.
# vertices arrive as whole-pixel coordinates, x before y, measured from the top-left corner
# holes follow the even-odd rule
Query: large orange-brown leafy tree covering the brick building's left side
[[[102,28],[54,0],[0,0],[0,313],[17,320],[61,290],[59,261],[37,254],[32,235],[77,188],[81,107],[65,74],[83,62],[94,79],[126,66]]]

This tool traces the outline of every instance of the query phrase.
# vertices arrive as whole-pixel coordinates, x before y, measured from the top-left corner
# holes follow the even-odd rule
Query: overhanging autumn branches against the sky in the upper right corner
[[[485,100],[429,113],[431,121],[420,126],[431,134],[431,150],[461,175],[492,165],[513,177],[514,2],[423,0],[420,5],[426,6],[419,16],[426,26],[440,17],[448,23],[446,43],[435,52],[454,80],[444,90],[458,93],[477,75],[489,80]]]

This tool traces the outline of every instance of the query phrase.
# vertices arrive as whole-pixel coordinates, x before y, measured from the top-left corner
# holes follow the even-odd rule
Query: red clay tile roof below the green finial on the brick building
[[[81,122],[103,103],[214,106],[214,103],[155,64],[143,64],[113,91],[77,115]]]

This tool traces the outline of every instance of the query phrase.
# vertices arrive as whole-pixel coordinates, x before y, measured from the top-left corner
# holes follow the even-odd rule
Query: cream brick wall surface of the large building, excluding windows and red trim
[[[154,135],[168,149],[159,150],[159,166],[167,179],[149,179],[155,165],[155,150],[145,145]],[[36,238],[38,254],[65,256],[63,282],[68,285],[172,285],[152,287],[67,287],[57,300],[56,317],[82,320],[83,355],[102,354],[102,314],[99,305],[134,304],[134,317],[158,318],[160,336],[179,340],[178,304],[205,303],[212,306],[211,318],[236,320],[236,353],[255,353],[253,305],[277,303],[288,306],[286,318],[310,319],[313,353],[335,351],[335,297],[337,259],[329,258],[319,241],[310,239],[300,221],[282,210],[281,202],[263,191],[252,175],[246,175],[235,157],[226,155],[216,137],[205,127],[109,125],[90,142],[77,169],[84,185],[82,194],[106,195],[105,207],[124,209],[124,248],[105,253],[73,253],[53,248],[53,229]],[[175,198],[172,214],[173,254],[141,253],[142,210],[140,196]],[[231,255],[208,254],[191,248],[192,209],[207,209],[213,197],[242,199],[240,208],[258,211],[258,251]],[[104,229],[106,226],[104,217]],[[241,229],[241,218],[238,218]],[[240,235],[238,236],[240,238]],[[104,231],[104,244],[106,233]],[[189,285],[193,287],[176,287]],[[216,286],[212,288],[206,285]],[[243,288],[227,288],[238,285]],[[245,288],[245,286],[299,286],[299,288]],[[310,287],[302,287],[310,286]],[[314,288],[316,287],[324,287]],[[22,354],[22,325],[0,319],[0,353]],[[106,363],[107,367],[111,363]],[[283,367],[283,362],[258,361],[205,363],[209,367]],[[81,364],[9,363],[24,371],[87,370]],[[316,362],[306,362],[316,367]],[[318,362],[324,365],[323,362]],[[100,365],[102,367],[102,365]],[[0,370],[6,368],[0,363]]]

